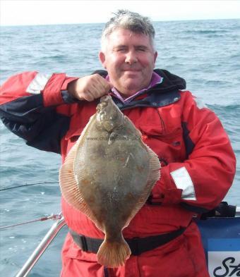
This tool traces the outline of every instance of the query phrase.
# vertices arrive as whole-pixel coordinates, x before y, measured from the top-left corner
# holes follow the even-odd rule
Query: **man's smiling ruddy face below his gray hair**
[[[126,96],[148,87],[157,52],[148,35],[116,29],[107,39],[100,61],[116,90]]]

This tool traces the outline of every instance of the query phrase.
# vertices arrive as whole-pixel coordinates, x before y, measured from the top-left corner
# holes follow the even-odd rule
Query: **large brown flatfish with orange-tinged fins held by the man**
[[[97,252],[100,264],[122,266],[131,255],[122,230],[143,207],[159,178],[155,152],[112,98],[102,97],[59,174],[66,202],[105,234]]]

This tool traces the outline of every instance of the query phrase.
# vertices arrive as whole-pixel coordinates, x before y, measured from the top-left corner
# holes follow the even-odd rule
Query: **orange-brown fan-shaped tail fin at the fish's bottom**
[[[97,262],[107,267],[123,266],[131,255],[131,250],[124,240],[109,241],[105,238],[97,252]]]

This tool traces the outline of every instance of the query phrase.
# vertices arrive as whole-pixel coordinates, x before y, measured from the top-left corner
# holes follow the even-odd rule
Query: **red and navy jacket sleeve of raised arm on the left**
[[[68,130],[68,114],[59,106],[74,103],[66,91],[64,73],[25,72],[14,75],[1,86],[0,117],[4,125],[37,149],[60,153],[61,137]]]

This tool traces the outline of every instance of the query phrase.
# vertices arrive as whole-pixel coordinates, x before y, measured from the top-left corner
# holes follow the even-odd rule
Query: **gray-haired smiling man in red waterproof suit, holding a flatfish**
[[[100,61],[105,70],[83,78],[22,73],[1,87],[1,119],[27,144],[61,153],[63,161],[102,95],[115,103],[159,156],[161,178],[124,238],[132,255],[125,266],[97,264],[104,235],[62,199],[71,230],[61,276],[209,276],[193,216],[217,206],[232,185],[236,161],[215,113],[167,70],[153,70],[155,30],[148,18],[118,11],[104,28]],[[110,92],[109,92],[110,91]]]

